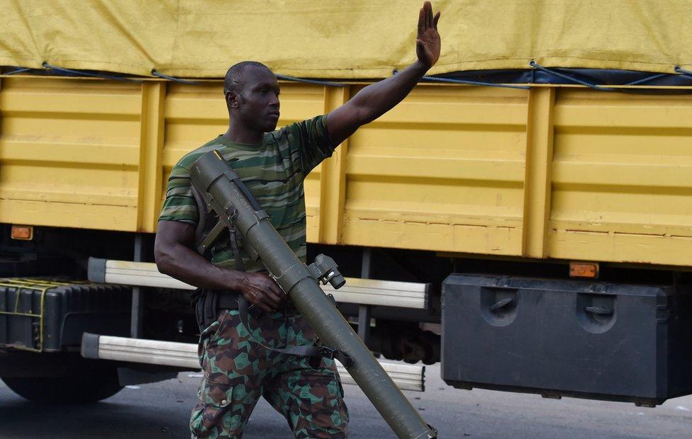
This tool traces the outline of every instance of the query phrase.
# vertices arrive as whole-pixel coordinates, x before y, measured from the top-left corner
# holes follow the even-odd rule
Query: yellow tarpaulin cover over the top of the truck
[[[419,0],[0,0],[0,64],[221,77],[255,59],[321,78],[390,76],[415,57]],[[692,69],[692,0],[447,0],[431,73]]]

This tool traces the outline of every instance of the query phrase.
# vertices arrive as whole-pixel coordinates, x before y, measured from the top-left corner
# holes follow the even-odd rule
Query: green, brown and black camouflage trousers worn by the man
[[[246,317],[226,309],[203,331],[203,380],[190,429],[198,438],[240,438],[260,396],[286,418],[296,438],[345,438],[348,411],[334,360],[277,353],[269,348],[313,346],[315,335],[299,313]],[[259,342],[259,343],[258,343]],[[261,343],[261,344],[260,344]],[[264,345],[264,346],[262,346]]]

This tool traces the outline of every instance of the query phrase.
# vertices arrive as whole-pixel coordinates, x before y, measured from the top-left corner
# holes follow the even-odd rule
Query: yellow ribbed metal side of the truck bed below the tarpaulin
[[[0,222],[154,232],[221,81],[4,77]],[[362,88],[281,84],[279,125]],[[686,95],[421,84],[308,177],[308,241],[692,265]]]

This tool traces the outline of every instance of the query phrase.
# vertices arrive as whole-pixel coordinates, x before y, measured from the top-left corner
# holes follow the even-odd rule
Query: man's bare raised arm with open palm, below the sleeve
[[[334,144],[340,144],[361,125],[372,122],[406,98],[415,84],[425,76],[440,57],[440,34],[437,33],[438,12],[426,1],[418,14],[418,35],[415,55],[418,59],[396,75],[371,84],[327,115],[327,129]]]

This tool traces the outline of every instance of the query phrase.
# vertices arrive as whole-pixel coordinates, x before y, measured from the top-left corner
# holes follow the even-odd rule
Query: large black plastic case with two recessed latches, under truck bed
[[[672,287],[450,275],[454,387],[661,404],[692,393],[692,294]]]

